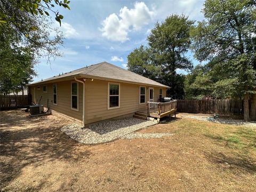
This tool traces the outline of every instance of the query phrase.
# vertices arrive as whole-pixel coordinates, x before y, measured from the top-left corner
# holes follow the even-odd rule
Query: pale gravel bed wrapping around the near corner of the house
[[[99,144],[116,140],[126,134],[155,124],[157,124],[157,121],[144,121],[142,119],[129,118],[92,124],[89,128],[85,129],[72,123],[63,126],[60,130],[78,142]]]

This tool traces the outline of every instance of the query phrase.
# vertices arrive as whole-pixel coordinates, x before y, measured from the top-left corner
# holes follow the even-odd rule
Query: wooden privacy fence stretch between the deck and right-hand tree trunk
[[[204,113],[222,115],[243,115],[243,100],[177,100],[177,110],[184,113]]]

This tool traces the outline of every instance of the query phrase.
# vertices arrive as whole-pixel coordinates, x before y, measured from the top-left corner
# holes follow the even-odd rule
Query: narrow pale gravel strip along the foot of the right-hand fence
[[[245,122],[243,120],[238,120],[238,119],[223,119],[223,118],[213,119],[213,118],[209,118],[209,117],[205,117],[205,116],[193,116],[193,115],[183,115],[182,117],[194,118],[194,119],[198,119],[201,121],[210,121],[213,123],[221,123],[221,124],[229,124],[229,125],[244,125],[246,127],[256,128],[255,121]]]

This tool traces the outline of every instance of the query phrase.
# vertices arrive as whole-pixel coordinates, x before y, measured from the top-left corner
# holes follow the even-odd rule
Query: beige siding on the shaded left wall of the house
[[[43,92],[43,85],[31,86],[30,93],[32,95],[32,101],[35,102],[37,99],[39,101],[42,95],[40,103],[44,107],[47,106],[47,99],[49,99],[50,109],[81,122],[83,119],[83,84],[78,83],[78,111],[71,109],[71,81],[55,83],[57,84],[57,105],[53,105],[53,84],[45,84],[47,85],[47,93]],[[38,86],[40,90],[37,89]],[[34,88],[36,91],[35,95]]]

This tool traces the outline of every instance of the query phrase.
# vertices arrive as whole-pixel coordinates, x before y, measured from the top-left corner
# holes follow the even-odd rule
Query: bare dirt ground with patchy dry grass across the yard
[[[55,116],[1,111],[2,191],[255,191],[256,132],[243,126],[181,118],[141,133],[84,145]]]

